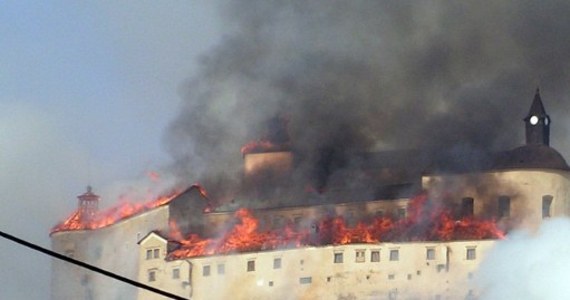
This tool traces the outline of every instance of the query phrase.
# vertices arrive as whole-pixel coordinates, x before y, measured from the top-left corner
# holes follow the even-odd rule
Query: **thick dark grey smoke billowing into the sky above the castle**
[[[568,1],[228,1],[167,143],[190,181],[236,178],[276,115],[300,165],[383,149],[524,143],[537,86],[565,152]],[[324,155],[323,155],[324,154]],[[310,167],[308,169],[311,169]],[[227,182],[226,182],[227,183]]]

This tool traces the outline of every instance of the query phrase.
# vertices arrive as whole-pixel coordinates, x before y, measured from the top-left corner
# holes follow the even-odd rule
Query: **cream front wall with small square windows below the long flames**
[[[477,294],[471,279],[494,243],[351,244],[165,261],[147,257],[148,249],[166,249],[153,235],[141,242],[139,280],[193,300],[464,299]],[[164,297],[141,290],[138,299]]]

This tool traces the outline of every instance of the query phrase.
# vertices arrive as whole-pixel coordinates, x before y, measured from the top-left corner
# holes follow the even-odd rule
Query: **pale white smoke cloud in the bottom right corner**
[[[568,299],[569,234],[570,221],[553,219],[497,242],[476,275],[481,299]]]

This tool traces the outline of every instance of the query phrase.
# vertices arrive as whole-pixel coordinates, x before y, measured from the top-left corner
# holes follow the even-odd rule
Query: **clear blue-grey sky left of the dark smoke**
[[[87,184],[104,196],[167,164],[179,87],[219,27],[211,1],[2,1],[0,229],[48,247]],[[46,299],[49,259],[0,248],[0,298]]]

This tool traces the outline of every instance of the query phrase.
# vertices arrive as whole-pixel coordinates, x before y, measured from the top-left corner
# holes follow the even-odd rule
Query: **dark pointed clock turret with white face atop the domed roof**
[[[550,145],[550,117],[544,110],[538,88],[524,122],[526,125],[527,145]]]

